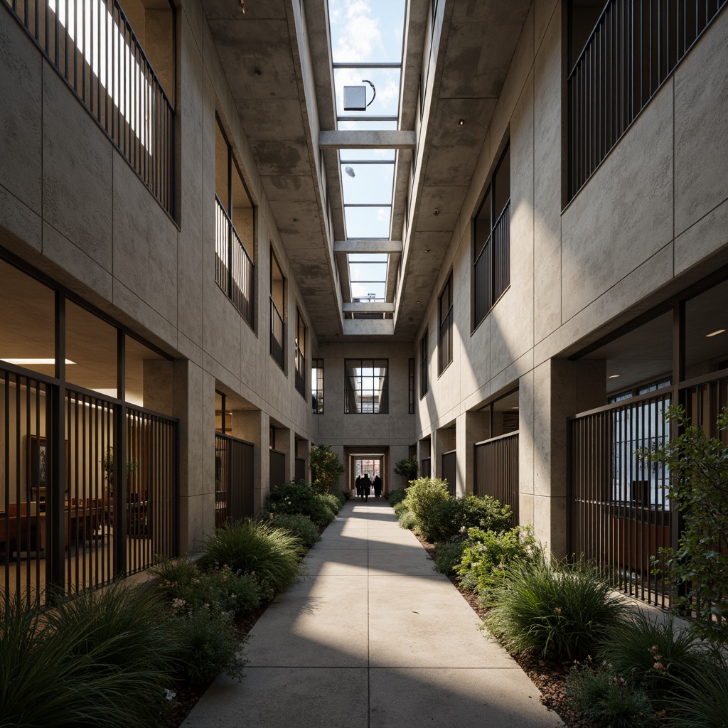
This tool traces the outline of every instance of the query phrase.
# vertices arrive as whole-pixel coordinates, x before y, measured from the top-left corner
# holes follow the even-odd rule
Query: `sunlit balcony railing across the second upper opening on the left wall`
[[[232,220],[215,195],[215,282],[254,328],[255,270]]]

